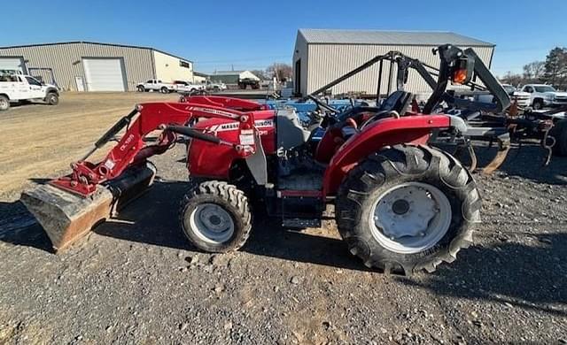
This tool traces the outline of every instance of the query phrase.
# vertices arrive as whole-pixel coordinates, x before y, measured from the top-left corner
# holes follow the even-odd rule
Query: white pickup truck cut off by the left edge
[[[0,73],[0,111],[10,103],[42,100],[50,105],[59,103],[59,91],[54,85],[43,84],[31,75]]]

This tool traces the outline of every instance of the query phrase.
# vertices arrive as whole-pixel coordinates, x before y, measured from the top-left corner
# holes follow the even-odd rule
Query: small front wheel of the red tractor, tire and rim
[[[240,249],[252,229],[244,192],[223,181],[206,181],[192,188],[183,197],[179,214],[183,233],[207,252]]]

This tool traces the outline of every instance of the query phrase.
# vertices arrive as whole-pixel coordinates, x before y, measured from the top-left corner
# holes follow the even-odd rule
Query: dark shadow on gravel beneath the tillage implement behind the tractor
[[[475,152],[478,157],[478,167],[483,168],[496,156],[497,149],[478,145],[475,146]],[[468,162],[469,157],[464,156],[459,158]],[[517,176],[539,183],[566,185],[567,158],[554,156],[551,157],[548,166],[543,166],[546,157],[547,151],[535,144],[525,144],[521,149],[514,147],[509,150],[504,164],[495,173],[506,173],[509,176]]]

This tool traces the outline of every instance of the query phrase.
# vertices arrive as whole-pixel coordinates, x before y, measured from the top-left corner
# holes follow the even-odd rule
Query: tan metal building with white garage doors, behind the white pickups
[[[193,80],[193,63],[186,58],[98,42],[0,47],[0,70],[19,70],[74,91],[134,91],[148,79]]]

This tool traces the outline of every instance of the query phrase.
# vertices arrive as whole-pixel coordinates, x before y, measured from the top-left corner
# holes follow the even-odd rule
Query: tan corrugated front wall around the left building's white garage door
[[[154,78],[150,49],[97,43],[61,43],[0,49],[0,57],[23,57],[26,67],[53,69],[59,88],[76,91],[75,76],[85,80],[82,58],[124,58],[127,86]]]

